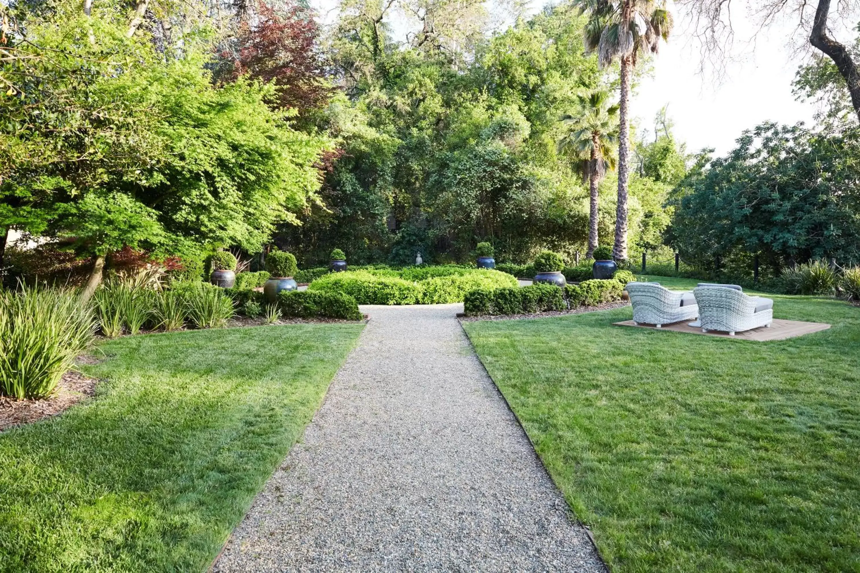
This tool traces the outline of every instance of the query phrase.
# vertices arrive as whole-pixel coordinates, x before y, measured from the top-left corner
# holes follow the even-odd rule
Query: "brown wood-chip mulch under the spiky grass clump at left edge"
[[[77,363],[95,363],[93,357],[78,357]],[[95,378],[69,370],[60,379],[50,398],[13,400],[0,396],[0,431],[22,424],[33,424],[65,411],[71,405],[95,393]]]

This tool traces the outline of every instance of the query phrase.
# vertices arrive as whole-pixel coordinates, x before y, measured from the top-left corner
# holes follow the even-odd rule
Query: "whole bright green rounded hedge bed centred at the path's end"
[[[504,272],[458,265],[415,266],[402,271],[367,269],[317,278],[309,290],[341,292],[359,304],[442,304],[463,302],[476,289],[519,286]]]

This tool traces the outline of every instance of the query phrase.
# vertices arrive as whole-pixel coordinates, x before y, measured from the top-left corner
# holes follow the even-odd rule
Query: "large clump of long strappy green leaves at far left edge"
[[[92,309],[69,291],[0,290],[0,394],[46,398],[94,334]]]

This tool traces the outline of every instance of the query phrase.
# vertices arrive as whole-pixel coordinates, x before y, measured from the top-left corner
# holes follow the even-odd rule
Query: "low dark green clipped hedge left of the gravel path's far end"
[[[239,314],[256,318],[266,307],[259,290],[224,289]],[[364,315],[352,296],[337,292],[311,290],[282,290],[278,293],[278,308],[283,318],[361,320]]]

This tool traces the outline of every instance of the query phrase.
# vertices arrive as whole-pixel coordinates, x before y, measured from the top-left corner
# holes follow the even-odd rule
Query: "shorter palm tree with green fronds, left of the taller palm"
[[[618,143],[618,106],[609,105],[609,93],[602,89],[576,96],[580,107],[575,115],[563,115],[564,134],[558,139],[560,153],[576,159],[574,169],[588,181],[591,201],[588,211],[588,250],[591,259],[598,245],[598,184],[607,168],[615,168]]]

